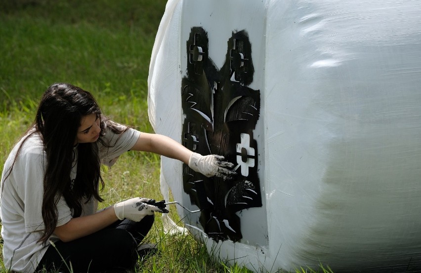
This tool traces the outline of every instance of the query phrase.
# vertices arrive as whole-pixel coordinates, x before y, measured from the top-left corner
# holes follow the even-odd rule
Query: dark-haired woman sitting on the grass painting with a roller
[[[1,175],[5,268],[67,271],[71,262],[75,273],[133,269],[154,212],[168,211],[135,197],[96,212],[103,201],[100,165],[111,166],[127,150],[178,159],[208,177],[235,174],[220,156],[202,156],[168,137],[114,123],[89,92],[53,84]]]

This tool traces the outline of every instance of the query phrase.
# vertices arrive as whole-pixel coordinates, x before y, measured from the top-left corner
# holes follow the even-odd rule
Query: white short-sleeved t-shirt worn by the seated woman
[[[113,165],[121,154],[133,147],[139,135],[139,131],[128,129],[118,138],[119,135],[107,130],[103,137],[104,142],[110,145],[116,144],[108,148],[99,141],[96,142],[101,163]],[[8,174],[19,146],[20,142],[10,152],[4,164],[0,182]],[[49,245],[49,242],[45,246],[37,242],[44,229],[41,214],[44,166],[46,166],[44,155],[41,137],[38,134],[29,137],[22,146],[12,172],[4,181],[4,185],[1,183],[0,186],[0,192],[2,192],[0,196],[1,236],[4,241],[3,259],[6,270],[34,272]],[[76,178],[76,170],[77,162],[74,162],[71,180]],[[93,199],[91,198],[87,204],[83,203],[82,215],[96,212],[98,202]],[[72,212],[63,197],[57,204],[57,210],[57,227],[72,219]],[[58,240],[54,236],[50,239]]]

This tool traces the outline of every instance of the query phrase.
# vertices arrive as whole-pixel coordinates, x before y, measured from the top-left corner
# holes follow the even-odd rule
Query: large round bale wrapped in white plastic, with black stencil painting
[[[168,1],[156,133],[238,178],[162,159],[162,189],[215,257],[259,271],[394,272],[421,254],[421,2]]]

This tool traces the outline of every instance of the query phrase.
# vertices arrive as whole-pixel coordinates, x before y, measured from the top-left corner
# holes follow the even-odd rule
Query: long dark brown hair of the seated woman
[[[25,139],[20,144],[11,169],[28,137],[39,134],[42,137],[46,166],[44,166],[42,219],[45,229],[39,241],[45,243],[57,225],[57,203],[61,196],[73,210],[73,217],[82,214],[83,200],[95,198],[103,201],[99,195],[99,183],[104,187],[100,173],[100,158],[97,143],[79,143],[76,149],[78,128],[81,120],[89,114],[96,114],[100,119],[100,141],[103,145],[105,129],[116,134],[127,130],[117,126],[101,114],[101,109],[94,97],[83,89],[66,83],[56,83],[48,87],[42,95],[34,124],[28,129]],[[34,130],[35,128],[35,130]],[[70,180],[72,164],[77,158],[77,175],[75,181]]]

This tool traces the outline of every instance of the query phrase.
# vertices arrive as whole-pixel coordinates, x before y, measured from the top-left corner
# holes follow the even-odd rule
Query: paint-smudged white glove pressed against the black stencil
[[[207,177],[217,176],[220,178],[231,179],[237,173],[229,170],[228,168],[234,168],[234,164],[223,161],[225,158],[221,155],[201,155],[193,153],[189,159],[189,167]]]

